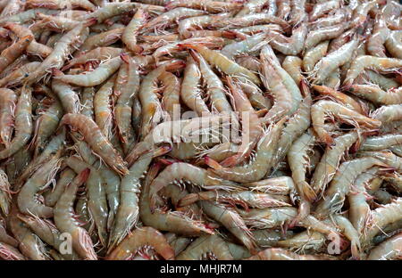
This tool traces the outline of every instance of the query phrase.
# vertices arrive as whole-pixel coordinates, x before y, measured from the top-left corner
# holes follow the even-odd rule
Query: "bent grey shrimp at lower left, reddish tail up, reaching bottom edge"
[[[54,224],[62,233],[70,233],[72,247],[80,257],[96,260],[96,253],[88,232],[81,228],[72,210],[73,202],[76,198],[80,185],[84,184],[89,176],[90,170],[87,168],[80,172],[63,192],[60,199],[54,206]]]

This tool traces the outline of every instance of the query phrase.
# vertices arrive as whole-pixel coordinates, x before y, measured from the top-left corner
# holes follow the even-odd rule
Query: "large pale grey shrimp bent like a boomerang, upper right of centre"
[[[263,119],[264,123],[269,123],[293,114],[302,97],[293,78],[282,69],[271,46],[264,46],[260,59],[264,86],[270,90],[274,99],[272,108]]]

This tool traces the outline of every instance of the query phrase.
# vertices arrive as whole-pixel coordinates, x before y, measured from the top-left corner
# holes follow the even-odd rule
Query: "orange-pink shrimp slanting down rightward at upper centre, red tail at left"
[[[237,78],[246,78],[256,85],[261,85],[261,80],[255,75],[255,73],[241,67],[235,61],[231,61],[226,56],[215,50],[211,50],[204,45],[186,44],[181,46],[196,50],[197,53],[200,53],[206,61],[217,67],[219,70],[222,70],[227,75],[236,76]]]

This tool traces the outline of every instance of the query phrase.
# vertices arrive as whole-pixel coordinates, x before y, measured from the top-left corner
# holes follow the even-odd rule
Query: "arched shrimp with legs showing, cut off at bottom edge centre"
[[[221,236],[204,235],[191,242],[190,245],[176,258],[178,260],[198,260],[202,258],[214,258],[219,260],[234,259],[227,241]]]

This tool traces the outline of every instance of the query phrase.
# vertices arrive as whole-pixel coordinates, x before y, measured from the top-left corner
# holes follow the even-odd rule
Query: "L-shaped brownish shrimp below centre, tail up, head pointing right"
[[[201,221],[188,217],[181,211],[171,211],[161,208],[151,209],[149,203],[149,190],[152,180],[157,175],[160,165],[155,164],[147,173],[144,188],[139,197],[139,217],[145,225],[152,225],[159,231],[168,231],[171,233],[196,236],[200,234],[213,232]],[[153,210],[153,212],[151,211]]]

